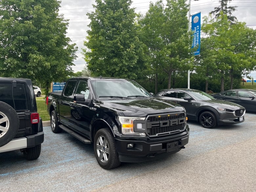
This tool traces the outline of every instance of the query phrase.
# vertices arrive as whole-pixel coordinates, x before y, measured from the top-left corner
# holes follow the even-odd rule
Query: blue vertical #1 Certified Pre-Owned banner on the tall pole
[[[200,55],[201,12],[191,16],[191,30],[193,31],[193,43],[191,48],[197,47],[194,55]]]

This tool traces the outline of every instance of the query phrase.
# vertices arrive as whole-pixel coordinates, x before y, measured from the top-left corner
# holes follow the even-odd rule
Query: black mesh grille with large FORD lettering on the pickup
[[[151,115],[147,119],[147,134],[150,137],[170,135],[185,129],[185,114],[170,113]]]

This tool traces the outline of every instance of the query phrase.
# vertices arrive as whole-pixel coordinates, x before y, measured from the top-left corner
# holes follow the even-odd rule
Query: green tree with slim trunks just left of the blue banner
[[[188,70],[189,33],[188,6],[185,0],[167,0],[150,4],[149,11],[141,19],[140,25],[144,34],[143,42],[148,46],[151,67],[156,77],[164,72],[168,77],[167,87],[174,86],[177,72]],[[192,62],[191,62],[192,63]],[[157,90],[157,87],[156,87]]]

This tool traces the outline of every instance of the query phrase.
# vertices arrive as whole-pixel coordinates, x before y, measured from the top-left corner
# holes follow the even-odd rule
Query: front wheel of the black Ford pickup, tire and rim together
[[[108,128],[99,129],[94,138],[94,153],[98,164],[104,169],[120,165],[114,137]]]

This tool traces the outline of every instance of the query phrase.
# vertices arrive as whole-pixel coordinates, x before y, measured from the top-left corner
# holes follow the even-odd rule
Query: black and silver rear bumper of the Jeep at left
[[[34,147],[41,144],[44,141],[44,132],[39,132],[35,135],[29,135],[22,138],[12,139],[6,145],[0,147],[0,153],[6,151],[13,151],[16,149],[24,149]]]

